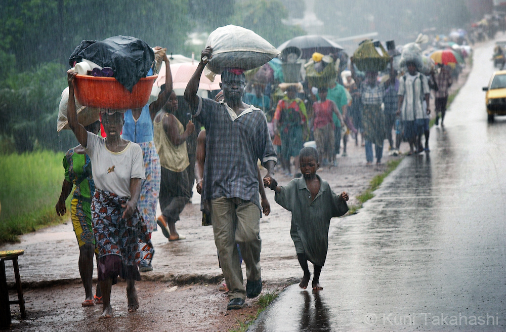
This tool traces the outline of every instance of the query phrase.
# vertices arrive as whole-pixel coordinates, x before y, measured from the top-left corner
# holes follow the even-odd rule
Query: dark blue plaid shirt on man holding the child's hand
[[[277,161],[264,112],[251,106],[232,119],[226,103],[198,99],[194,117],[206,132],[202,199],[240,198],[262,209],[257,160]]]

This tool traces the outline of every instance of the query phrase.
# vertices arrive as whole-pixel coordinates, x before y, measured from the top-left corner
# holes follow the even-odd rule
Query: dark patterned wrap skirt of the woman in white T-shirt
[[[123,208],[128,197],[96,189],[92,199],[93,231],[99,252],[98,279],[111,278],[140,280],[137,269],[140,260],[139,239],[151,243],[149,233],[139,210],[129,219],[123,219]]]

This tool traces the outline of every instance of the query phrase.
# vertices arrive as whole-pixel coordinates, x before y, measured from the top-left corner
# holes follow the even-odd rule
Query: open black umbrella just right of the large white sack
[[[301,58],[303,59],[311,58],[315,52],[327,55],[344,50],[341,45],[334,43],[332,40],[315,34],[291,38],[281,44],[278,50],[283,52],[283,50],[288,47],[297,47],[301,49]]]

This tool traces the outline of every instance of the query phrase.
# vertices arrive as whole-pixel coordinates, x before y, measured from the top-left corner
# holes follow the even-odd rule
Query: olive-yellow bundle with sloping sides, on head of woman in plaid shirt
[[[360,71],[382,71],[387,68],[390,56],[379,41],[366,39],[353,53],[353,63]]]

